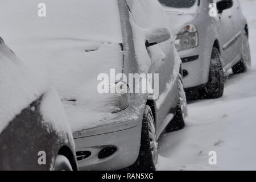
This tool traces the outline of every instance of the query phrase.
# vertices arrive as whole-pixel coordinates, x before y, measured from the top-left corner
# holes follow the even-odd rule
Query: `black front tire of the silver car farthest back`
[[[201,98],[215,99],[224,93],[224,71],[221,63],[220,53],[217,48],[212,49],[210,59],[209,81],[203,90],[200,90]]]

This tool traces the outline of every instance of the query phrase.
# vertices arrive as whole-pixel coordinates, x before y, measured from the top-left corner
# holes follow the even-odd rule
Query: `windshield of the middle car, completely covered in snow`
[[[44,0],[43,4],[42,0],[1,1],[2,38],[122,43],[118,0]],[[44,10],[46,16],[41,17]]]

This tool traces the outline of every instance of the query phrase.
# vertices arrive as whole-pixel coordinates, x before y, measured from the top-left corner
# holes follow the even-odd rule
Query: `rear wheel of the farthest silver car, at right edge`
[[[250,67],[250,66],[251,66],[250,45],[249,45],[249,40],[247,38],[246,32],[244,32],[243,43],[242,43],[242,59],[232,67],[232,70],[234,74],[244,73],[246,72],[247,67]]]

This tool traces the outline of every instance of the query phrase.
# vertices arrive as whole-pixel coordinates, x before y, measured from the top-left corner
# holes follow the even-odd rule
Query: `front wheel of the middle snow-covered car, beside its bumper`
[[[158,142],[156,142],[155,121],[150,109],[146,105],[141,134],[141,147],[137,161],[130,167],[131,171],[155,171],[158,163]]]

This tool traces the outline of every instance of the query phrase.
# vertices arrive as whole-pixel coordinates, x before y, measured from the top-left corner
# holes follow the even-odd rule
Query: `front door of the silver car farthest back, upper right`
[[[222,59],[224,68],[234,59],[234,49],[232,47],[232,39],[234,37],[234,26],[232,20],[232,10],[226,9],[218,15],[218,35],[222,47]]]

